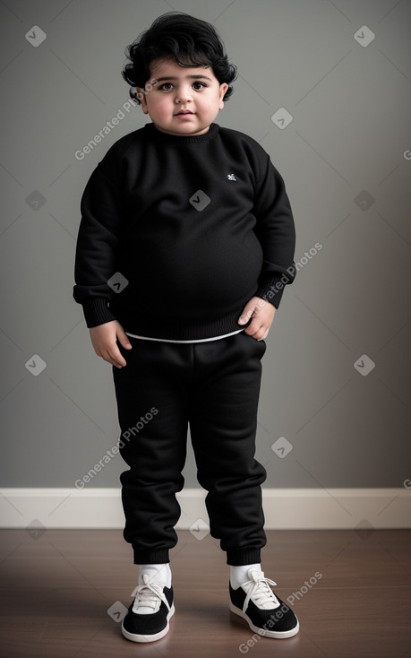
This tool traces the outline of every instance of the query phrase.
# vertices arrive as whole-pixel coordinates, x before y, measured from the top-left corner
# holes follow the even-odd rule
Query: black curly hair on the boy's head
[[[125,48],[130,64],[121,72],[132,88],[144,85],[150,78],[150,64],[159,57],[172,57],[181,66],[210,66],[218,82],[227,82],[224,100],[233,93],[235,65],[229,64],[224,44],[210,23],[187,13],[169,12],[156,19],[149,30]],[[130,90],[130,97],[141,102],[141,94]]]

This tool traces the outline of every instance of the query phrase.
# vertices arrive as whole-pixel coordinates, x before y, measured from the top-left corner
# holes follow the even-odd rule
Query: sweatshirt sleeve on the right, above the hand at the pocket
[[[295,279],[295,223],[284,180],[268,155],[255,188],[254,212],[263,252],[256,294],[278,307],[285,286]]]

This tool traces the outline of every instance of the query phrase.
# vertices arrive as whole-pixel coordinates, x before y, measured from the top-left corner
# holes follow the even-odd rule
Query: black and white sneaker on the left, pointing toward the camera
[[[143,584],[137,585],[132,596],[134,602],[125,615],[121,630],[132,642],[154,642],[167,635],[168,620],[174,615],[173,586],[150,582],[150,576],[142,576]]]

